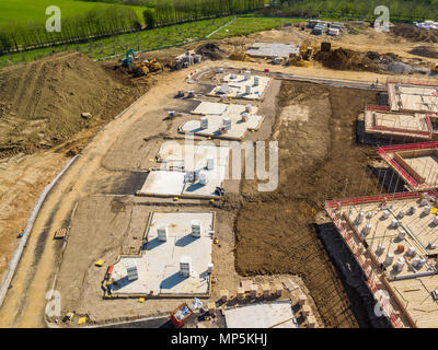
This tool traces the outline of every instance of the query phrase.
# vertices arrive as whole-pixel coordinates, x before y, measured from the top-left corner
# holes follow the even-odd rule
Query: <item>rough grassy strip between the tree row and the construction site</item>
[[[128,48],[132,48],[136,51],[152,50],[163,46],[201,39],[206,35],[212,33],[215,30],[220,28],[232,20],[233,16],[204,20],[124,34],[110,38],[97,39],[91,43],[61,45],[14,55],[0,56],[0,68],[14,63],[33,61],[48,56],[54,51],[78,50],[92,59],[101,59],[113,55],[123,55]],[[211,36],[211,38],[224,38],[237,35],[245,35],[258,31],[266,31],[293,21],[299,20],[251,16],[237,18],[233,23],[218,31]]]

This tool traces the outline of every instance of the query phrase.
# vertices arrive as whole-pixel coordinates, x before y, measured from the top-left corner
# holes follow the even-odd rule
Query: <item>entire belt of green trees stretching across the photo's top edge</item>
[[[4,25],[0,27],[0,55],[260,9],[281,15],[374,16],[374,8],[381,4],[388,5],[391,19],[438,18],[438,0],[270,0],[269,8],[265,8],[265,0],[159,0],[143,11],[146,26],[131,7],[122,5],[100,7],[65,19],[61,32],[46,31],[45,23]]]

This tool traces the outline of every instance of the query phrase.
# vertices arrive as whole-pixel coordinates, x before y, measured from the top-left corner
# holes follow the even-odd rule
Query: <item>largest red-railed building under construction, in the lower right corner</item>
[[[437,199],[411,191],[325,202],[378,301],[374,312],[395,328],[438,327]]]

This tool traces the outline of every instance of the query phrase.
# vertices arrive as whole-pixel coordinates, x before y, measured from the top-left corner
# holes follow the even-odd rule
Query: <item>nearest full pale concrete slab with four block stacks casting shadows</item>
[[[200,237],[192,236],[192,221],[201,223]],[[208,264],[211,262],[214,212],[153,212],[146,233],[146,250],[140,256],[122,256],[114,264],[113,276],[124,273],[128,260],[135,260],[138,279],[122,279],[111,287],[114,295],[186,296],[208,295],[210,280]],[[159,241],[157,228],[169,230],[166,241]],[[191,257],[189,277],[180,273],[180,259]]]

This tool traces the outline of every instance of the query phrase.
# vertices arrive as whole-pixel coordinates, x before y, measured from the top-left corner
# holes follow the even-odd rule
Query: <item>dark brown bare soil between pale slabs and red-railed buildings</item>
[[[315,215],[325,199],[380,190],[367,171],[376,148],[356,144],[355,135],[357,115],[374,102],[374,92],[284,82],[274,132],[280,149],[278,190],[254,195],[251,184],[242,185],[251,199],[235,224],[238,272],[300,276],[326,327],[368,326],[318,237]]]

